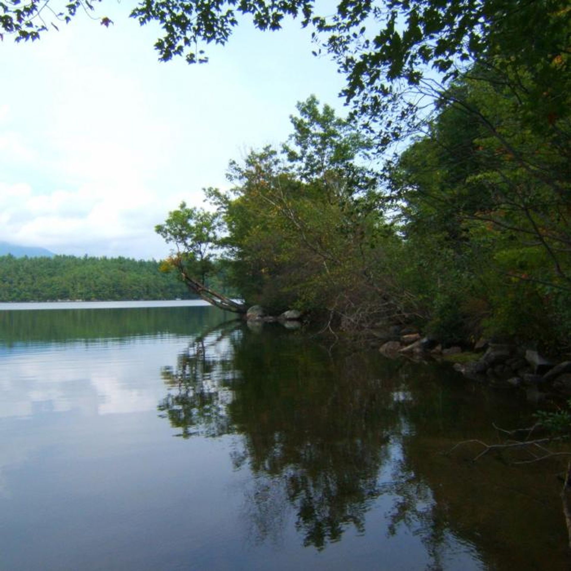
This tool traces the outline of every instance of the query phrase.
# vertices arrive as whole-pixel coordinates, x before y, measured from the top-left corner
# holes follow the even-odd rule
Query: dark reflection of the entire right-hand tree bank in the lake
[[[418,552],[413,560],[424,564],[415,568],[512,568],[497,546],[504,523],[502,541],[522,553],[518,568],[542,567],[545,545],[532,546],[533,520],[504,516],[491,529],[480,521],[488,511],[497,520],[498,510],[513,510],[527,476],[495,497],[505,473],[497,467],[493,476],[488,467],[479,473],[440,454],[467,431],[489,431],[494,415],[514,422],[520,407],[513,400],[470,395],[456,377],[439,379],[412,363],[380,364],[376,354],[330,355],[279,328],[264,335],[236,325],[211,332],[162,374],[168,393],[158,408],[178,436],[239,436],[232,461],[251,473],[242,490],[250,542],[279,544],[293,518],[303,545],[323,550],[348,530],[367,532],[369,512],[383,506],[385,542]],[[486,483],[478,486],[478,478]],[[543,501],[553,499],[548,488]],[[475,497],[465,498],[468,492]],[[541,505],[526,504],[530,517],[558,537],[549,548],[566,565],[564,528],[550,508],[547,517]],[[530,540],[525,548],[521,537]]]

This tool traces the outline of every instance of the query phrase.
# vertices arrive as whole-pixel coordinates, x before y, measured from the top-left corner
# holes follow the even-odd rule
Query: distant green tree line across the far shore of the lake
[[[223,288],[219,276],[213,282]],[[130,258],[0,256],[0,301],[192,299],[159,262]]]

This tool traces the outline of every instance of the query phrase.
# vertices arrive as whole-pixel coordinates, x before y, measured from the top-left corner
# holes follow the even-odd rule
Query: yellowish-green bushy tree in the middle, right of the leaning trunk
[[[272,311],[327,312],[355,330],[400,319],[405,289],[386,266],[399,239],[368,168],[369,140],[313,96],[297,110],[281,151],[231,162],[234,188],[208,191],[227,225],[234,285]]]

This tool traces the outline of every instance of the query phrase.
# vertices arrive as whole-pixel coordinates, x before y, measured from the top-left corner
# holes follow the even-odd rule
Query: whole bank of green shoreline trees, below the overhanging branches
[[[240,295],[347,328],[413,321],[445,343],[485,334],[568,347],[568,126],[525,130],[502,85],[463,76],[454,89],[518,156],[448,100],[381,176],[371,139],[311,97],[282,148],[232,161],[231,190],[206,195],[218,209],[211,252]],[[158,230],[184,251],[191,230],[204,236],[204,215],[182,207]]]

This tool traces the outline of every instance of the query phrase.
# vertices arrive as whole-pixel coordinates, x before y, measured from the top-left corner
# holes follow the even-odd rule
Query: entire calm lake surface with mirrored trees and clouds
[[[442,454],[513,393],[119,305],[0,307],[0,569],[568,569],[561,464]]]

